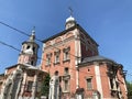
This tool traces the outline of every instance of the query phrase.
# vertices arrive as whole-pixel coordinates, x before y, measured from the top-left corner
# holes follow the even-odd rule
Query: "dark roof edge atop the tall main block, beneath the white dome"
[[[67,29],[67,30],[64,30],[63,32],[59,32],[59,33],[57,33],[57,34],[55,34],[55,35],[53,35],[53,36],[51,36],[51,37],[48,37],[48,38],[43,40],[43,43],[45,43],[45,42],[47,42],[47,41],[50,41],[50,40],[53,40],[53,38],[55,38],[55,37],[57,37],[57,36],[64,35],[64,34],[66,34],[68,31],[72,31],[72,30],[75,30],[75,29],[79,29],[80,31],[82,31],[82,32],[84,32],[87,36],[89,36],[90,40],[91,40],[94,43],[96,43],[96,45],[98,46],[97,42],[96,42],[79,24],[76,24],[75,26],[72,26],[72,28],[69,28],[69,29]]]

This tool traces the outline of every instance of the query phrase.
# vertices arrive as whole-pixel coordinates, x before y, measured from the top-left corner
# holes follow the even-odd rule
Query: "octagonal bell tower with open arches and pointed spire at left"
[[[35,43],[35,30],[32,30],[30,38],[22,43],[18,64],[36,65],[38,44]]]

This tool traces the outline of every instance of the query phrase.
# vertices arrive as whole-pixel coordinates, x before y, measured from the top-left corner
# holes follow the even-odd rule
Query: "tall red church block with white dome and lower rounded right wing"
[[[59,77],[62,99],[127,99],[123,66],[100,56],[96,41],[73,16],[43,43],[42,69]]]

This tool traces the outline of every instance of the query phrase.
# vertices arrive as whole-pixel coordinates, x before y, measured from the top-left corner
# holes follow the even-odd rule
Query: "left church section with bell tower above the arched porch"
[[[36,99],[40,97],[42,81],[47,74],[36,67],[38,45],[35,32],[22,43],[18,64],[6,68],[0,75],[0,99]]]

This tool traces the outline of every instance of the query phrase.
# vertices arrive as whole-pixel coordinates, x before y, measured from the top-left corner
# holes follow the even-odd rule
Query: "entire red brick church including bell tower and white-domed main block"
[[[36,66],[38,45],[32,31],[22,43],[18,64],[0,75],[0,99],[38,99],[47,73],[59,79],[59,99],[128,99],[123,66],[100,56],[98,46],[69,16],[64,31],[43,41],[42,62]],[[55,96],[50,99],[58,99]]]

